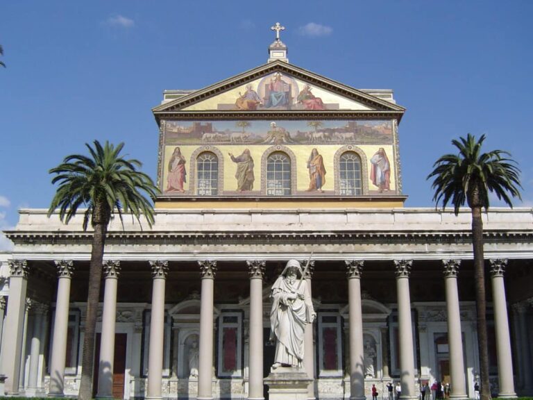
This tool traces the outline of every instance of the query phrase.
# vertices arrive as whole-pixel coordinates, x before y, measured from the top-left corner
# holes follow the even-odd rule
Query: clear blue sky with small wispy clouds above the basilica
[[[155,178],[151,108],[267,61],[286,27],[291,63],[355,88],[391,88],[406,206],[432,206],[425,176],[450,140],[510,151],[533,205],[533,1],[3,1],[0,228],[46,208],[48,170],[94,139],[126,142]],[[498,205],[494,203],[494,205]],[[1,244],[5,246],[5,242]]]

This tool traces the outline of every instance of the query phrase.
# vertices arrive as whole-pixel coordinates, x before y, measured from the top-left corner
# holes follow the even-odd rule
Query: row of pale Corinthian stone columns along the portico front
[[[263,304],[262,280],[265,269],[264,260],[248,260],[250,277],[250,330],[248,399],[263,398]],[[507,301],[503,273],[506,260],[490,260],[493,306],[496,324],[496,349],[498,353],[499,397],[516,397],[514,393],[513,369],[511,360],[511,342],[507,317]],[[164,335],[164,290],[168,274],[166,260],[150,262],[153,278],[150,340],[149,340],[149,375],[146,399],[162,399],[162,365]],[[412,260],[394,260],[396,269],[396,290],[398,303],[398,336],[400,351],[400,382],[403,399],[415,399],[414,347],[412,332],[412,310],[409,294],[409,275]],[[6,392],[19,393],[21,377],[21,358],[23,354],[24,326],[27,317],[26,287],[28,267],[25,260],[12,260],[10,266],[10,292],[4,338],[2,340],[1,372],[8,378]],[[67,348],[67,327],[69,314],[70,282],[74,273],[71,261],[56,262],[58,269],[58,296],[52,333],[50,363],[50,395],[62,396],[65,390],[65,353]],[[217,274],[217,261],[199,261],[201,273],[201,311],[200,343],[198,365],[198,399],[213,398],[213,332],[214,332],[214,280]],[[464,357],[462,345],[461,319],[459,312],[459,295],[457,276],[459,260],[443,260],[443,274],[446,288],[446,312],[448,316],[448,343],[450,349],[450,385],[453,399],[467,399],[464,374]],[[98,394],[99,398],[112,398],[112,370],[115,347],[115,315],[117,307],[117,280],[119,278],[119,261],[106,261],[104,269],[104,301],[102,318],[102,335],[100,349]],[[349,303],[349,352],[350,352],[350,399],[364,399],[364,350],[362,326],[361,279],[364,269],[362,260],[346,260]],[[308,289],[311,290],[312,269],[305,276]],[[0,304],[1,309],[1,304]],[[31,354],[29,367],[28,392],[37,390],[38,357],[42,353],[42,320],[44,314],[35,315],[31,333]],[[0,319],[1,320],[1,319]],[[312,329],[305,331],[304,367],[313,378]],[[310,385],[308,398],[314,398],[314,387]]]

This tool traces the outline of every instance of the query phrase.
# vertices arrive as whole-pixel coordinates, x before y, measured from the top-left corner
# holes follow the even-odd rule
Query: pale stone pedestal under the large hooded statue
[[[298,367],[270,369],[269,376],[264,378],[270,400],[307,400],[307,387],[312,381],[305,369]]]

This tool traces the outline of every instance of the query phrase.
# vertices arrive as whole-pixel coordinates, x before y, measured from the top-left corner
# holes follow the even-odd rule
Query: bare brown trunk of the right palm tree
[[[489,383],[489,341],[487,339],[487,297],[483,255],[483,221],[481,207],[472,207],[472,245],[475,272],[475,306],[477,312],[477,346],[480,353],[481,400],[491,400]]]

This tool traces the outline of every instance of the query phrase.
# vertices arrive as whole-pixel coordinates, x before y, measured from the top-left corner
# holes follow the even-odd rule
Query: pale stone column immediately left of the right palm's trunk
[[[463,337],[457,274],[461,260],[442,260],[446,287],[446,314],[448,316],[448,346],[450,349],[450,386],[452,399],[468,399],[464,376]]]

